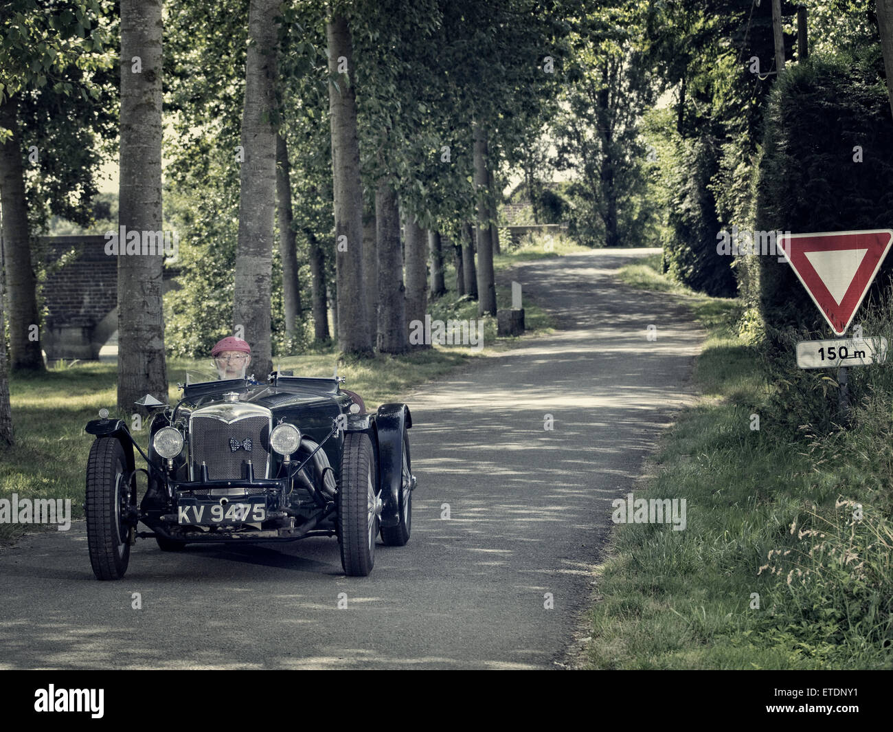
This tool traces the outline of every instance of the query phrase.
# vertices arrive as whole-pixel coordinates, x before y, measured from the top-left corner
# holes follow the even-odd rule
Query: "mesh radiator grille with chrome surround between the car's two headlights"
[[[202,461],[208,467],[208,480],[243,480],[248,460],[256,478],[270,477],[270,425],[270,416],[224,422],[216,416],[194,414],[189,427],[192,479],[200,479]],[[237,450],[230,447],[230,439],[238,442]],[[251,450],[245,449],[246,444]]]

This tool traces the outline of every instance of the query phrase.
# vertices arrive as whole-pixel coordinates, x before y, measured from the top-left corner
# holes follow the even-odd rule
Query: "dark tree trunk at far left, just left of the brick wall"
[[[9,290],[10,369],[33,372],[44,370],[44,357],[38,330],[38,278],[31,266],[18,107],[18,97],[7,97],[0,104],[0,127],[13,130],[13,137],[0,146],[0,201],[3,202],[5,276]]]

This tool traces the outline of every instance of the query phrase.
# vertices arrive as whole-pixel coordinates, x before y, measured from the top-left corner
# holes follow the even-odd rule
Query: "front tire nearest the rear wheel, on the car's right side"
[[[338,481],[338,542],[346,576],[368,576],[379,533],[375,456],[365,433],[346,433]]]

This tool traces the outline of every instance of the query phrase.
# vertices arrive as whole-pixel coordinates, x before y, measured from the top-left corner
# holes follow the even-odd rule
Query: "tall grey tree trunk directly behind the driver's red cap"
[[[245,108],[240,171],[238,249],[233,325],[251,346],[247,374],[265,381],[272,371],[270,300],[273,216],[276,206],[276,130],[272,125],[277,67],[279,0],[253,0],[248,11]]]

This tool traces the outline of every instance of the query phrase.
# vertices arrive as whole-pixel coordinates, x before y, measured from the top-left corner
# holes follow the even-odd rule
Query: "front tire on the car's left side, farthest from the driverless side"
[[[126,512],[136,503],[121,442],[101,437],[87,459],[87,544],[96,579],[121,579],[130,561]],[[126,483],[126,484],[125,484]]]

